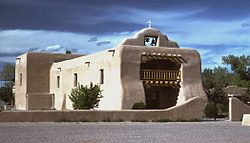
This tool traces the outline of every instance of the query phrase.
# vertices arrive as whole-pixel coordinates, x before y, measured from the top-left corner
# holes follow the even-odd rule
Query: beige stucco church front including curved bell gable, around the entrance
[[[145,36],[158,37],[156,47],[144,46]],[[201,59],[195,49],[181,49],[154,28],[145,28],[134,37],[121,42],[121,47],[116,50],[122,51],[121,55],[121,81],[123,87],[123,109],[131,109],[134,103],[144,101],[145,93],[140,80],[141,55],[147,54],[176,54],[181,55],[187,63],[181,65],[181,88],[177,97],[177,105],[184,103],[192,97],[201,97],[207,100],[201,82]]]

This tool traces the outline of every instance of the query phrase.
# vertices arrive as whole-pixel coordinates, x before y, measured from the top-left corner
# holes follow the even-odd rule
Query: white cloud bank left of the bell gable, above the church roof
[[[11,53],[25,53],[29,50],[43,52],[60,52],[73,50],[81,54],[89,54],[115,47],[129,32],[114,33],[111,35],[87,35],[71,32],[44,31],[44,30],[2,30],[0,31],[0,62],[14,62],[15,56],[4,56]],[[97,36],[98,41],[88,42]],[[111,41],[110,44],[96,46],[98,42]]]

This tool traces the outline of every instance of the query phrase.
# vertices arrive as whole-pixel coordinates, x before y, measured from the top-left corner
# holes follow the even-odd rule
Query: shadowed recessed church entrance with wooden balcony
[[[145,91],[146,109],[166,109],[175,106],[180,88],[181,60],[176,56],[163,58],[144,55],[143,58],[141,80]]]

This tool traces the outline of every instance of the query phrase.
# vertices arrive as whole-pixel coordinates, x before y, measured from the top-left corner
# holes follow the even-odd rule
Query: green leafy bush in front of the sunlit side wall
[[[73,102],[74,109],[93,109],[99,106],[101,95],[101,88],[99,85],[90,83],[90,86],[83,86],[78,84],[73,88],[69,95],[70,100]]]

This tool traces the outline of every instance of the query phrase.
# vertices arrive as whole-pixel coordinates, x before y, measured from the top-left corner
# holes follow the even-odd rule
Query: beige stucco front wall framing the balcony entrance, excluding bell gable
[[[182,82],[177,97],[177,105],[192,97],[201,97],[206,100],[201,83],[200,56],[196,50],[167,48],[167,47],[145,47],[145,46],[123,46],[122,47],[121,78],[123,85],[123,108],[130,109],[135,102],[145,101],[145,93],[140,80],[141,55],[146,53],[179,54],[187,63],[182,64]]]

